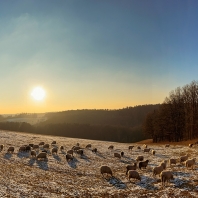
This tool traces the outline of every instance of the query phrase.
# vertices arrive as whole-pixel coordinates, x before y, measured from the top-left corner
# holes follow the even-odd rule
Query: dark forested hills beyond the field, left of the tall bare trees
[[[37,125],[0,122],[0,129],[115,142],[137,142],[147,137],[142,122],[158,105],[142,105],[120,110],[72,110],[48,113]]]

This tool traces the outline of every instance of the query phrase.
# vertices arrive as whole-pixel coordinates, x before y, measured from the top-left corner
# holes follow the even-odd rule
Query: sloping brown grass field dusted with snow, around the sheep
[[[63,145],[65,150],[58,155],[49,152],[48,160],[36,160],[29,157],[29,153],[19,153],[18,149],[24,144],[38,144],[41,141],[50,144],[57,141],[57,146]],[[84,149],[81,157],[67,163],[65,152],[79,143],[82,148],[88,143],[97,148],[98,153],[91,149]],[[179,158],[190,154],[190,158],[197,157],[198,147],[153,145],[150,148],[156,155],[138,150],[140,144],[123,144],[94,140],[74,139],[56,136],[44,136],[17,132],[0,131],[0,144],[4,144],[0,152],[0,197],[198,197],[198,167],[187,170],[183,164],[167,167],[172,170],[174,180],[162,187],[159,176],[153,177],[153,167],[162,160],[170,157]],[[114,145],[113,150],[108,150]],[[129,145],[134,145],[132,151]],[[9,146],[14,146],[13,154],[8,154]],[[40,148],[41,150],[42,148]],[[125,153],[122,159],[113,157],[114,152]],[[126,178],[126,165],[135,162],[138,155],[149,160],[147,169],[137,171],[141,181],[129,182]],[[108,165],[113,170],[113,177],[102,177],[100,166]]]

